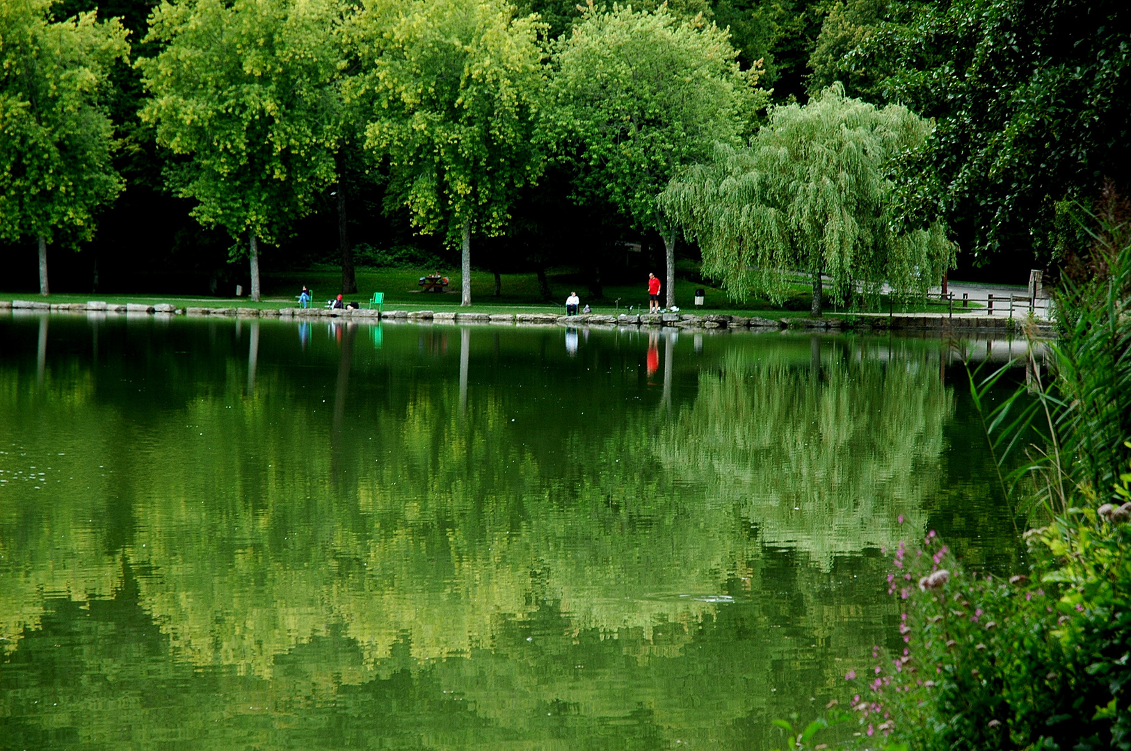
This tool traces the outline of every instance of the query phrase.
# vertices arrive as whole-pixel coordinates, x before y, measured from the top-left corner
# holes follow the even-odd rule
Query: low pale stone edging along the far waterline
[[[929,313],[896,313],[896,314],[869,314],[856,313],[844,317],[822,318],[758,318],[748,316],[725,316],[707,314],[697,316],[693,313],[650,313],[631,314],[620,313],[618,316],[581,313],[578,316],[559,316],[556,313],[473,313],[415,310],[412,312],[404,310],[327,310],[316,308],[283,308],[260,310],[258,308],[178,308],[171,303],[129,303],[109,304],[100,301],[77,302],[77,303],[46,303],[28,300],[0,300],[0,310],[10,308],[14,310],[31,310],[46,312],[103,312],[103,313],[133,313],[133,314],[156,314],[156,316],[189,316],[189,317],[239,317],[239,318],[279,318],[279,319],[313,319],[313,318],[337,318],[345,320],[406,320],[417,322],[438,323],[511,323],[511,325],[541,325],[541,326],[641,326],[641,327],[668,327],[668,328],[693,328],[693,329],[915,329],[915,330],[1018,330],[1021,328],[1021,319],[1011,319],[1005,316],[974,316],[962,314],[950,317],[947,314]],[[1052,331],[1047,321],[1036,321],[1038,331],[1050,334]]]

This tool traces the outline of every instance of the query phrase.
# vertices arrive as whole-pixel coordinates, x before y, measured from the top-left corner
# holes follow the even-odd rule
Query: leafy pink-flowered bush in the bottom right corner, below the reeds
[[[1129,485],[1131,474],[1120,486],[1131,499]],[[889,581],[905,604],[905,646],[849,674],[863,683],[852,708],[865,739],[916,750],[1131,746],[1131,527],[1072,509],[1028,543],[1034,576],[1008,581],[965,571],[933,532],[900,544]]]

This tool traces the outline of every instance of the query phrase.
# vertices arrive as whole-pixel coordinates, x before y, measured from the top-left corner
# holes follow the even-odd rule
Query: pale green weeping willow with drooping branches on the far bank
[[[702,249],[703,274],[737,300],[785,299],[787,271],[810,274],[812,314],[822,276],[847,303],[887,282],[925,294],[955,264],[939,221],[912,226],[892,210],[899,162],[933,124],[904,106],[875,107],[836,84],[809,104],[776,107],[749,147],[716,145],[710,162],[675,178],[661,206]]]

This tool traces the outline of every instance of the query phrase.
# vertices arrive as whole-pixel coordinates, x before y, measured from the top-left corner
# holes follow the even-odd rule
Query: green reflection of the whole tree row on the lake
[[[464,340],[448,370],[414,371],[413,353],[432,356],[415,334],[386,336],[380,360],[345,331],[340,347],[316,342],[311,374],[280,366],[290,351],[257,331],[253,347],[211,343],[225,354],[210,362],[141,364],[104,336],[100,369],[49,360],[43,386],[0,368],[0,420],[29,456],[66,454],[52,466],[77,477],[51,504],[0,506],[2,636],[38,645],[14,659],[124,598],[129,628],[157,639],[150,662],[104,644],[126,625],[98,625],[66,670],[129,674],[201,732],[227,711],[206,694],[228,691],[249,707],[372,702],[371,719],[411,705],[438,748],[501,742],[468,730],[486,725],[534,737],[543,717],[575,737],[636,717],[611,748],[675,731],[740,744],[761,722],[742,718],[831,698],[830,655],[870,649],[887,610],[865,549],[895,539],[898,513],[922,524],[952,409],[920,351],[881,365],[827,346],[814,370],[809,342],[742,344],[688,396],[665,346],[668,413],[610,380],[589,392],[508,363],[507,383],[476,373],[482,356],[468,373]],[[159,398],[169,370],[191,388]],[[544,395],[559,388],[596,416],[555,416]],[[457,697],[474,711],[449,733]],[[241,711],[228,741],[262,741],[268,718],[361,733],[292,710]],[[138,727],[150,717],[123,711]]]

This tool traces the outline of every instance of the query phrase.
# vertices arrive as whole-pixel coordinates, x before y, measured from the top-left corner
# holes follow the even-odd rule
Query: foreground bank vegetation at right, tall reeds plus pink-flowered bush
[[[1131,745],[1131,232],[1113,214],[1088,277],[1057,299],[1053,381],[1041,385],[1030,353],[1030,406],[987,415],[995,451],[999,431],[1043,425],[1022,482],[1002,485],[1039,525],[1025,535],[1028,570],[986,576],[933,532],[899,544],[888,581],[901,642],[891,667],[861,666],[853,701],[869,736],[940,751]],[[972,390],[982,400],[973,377]]]

